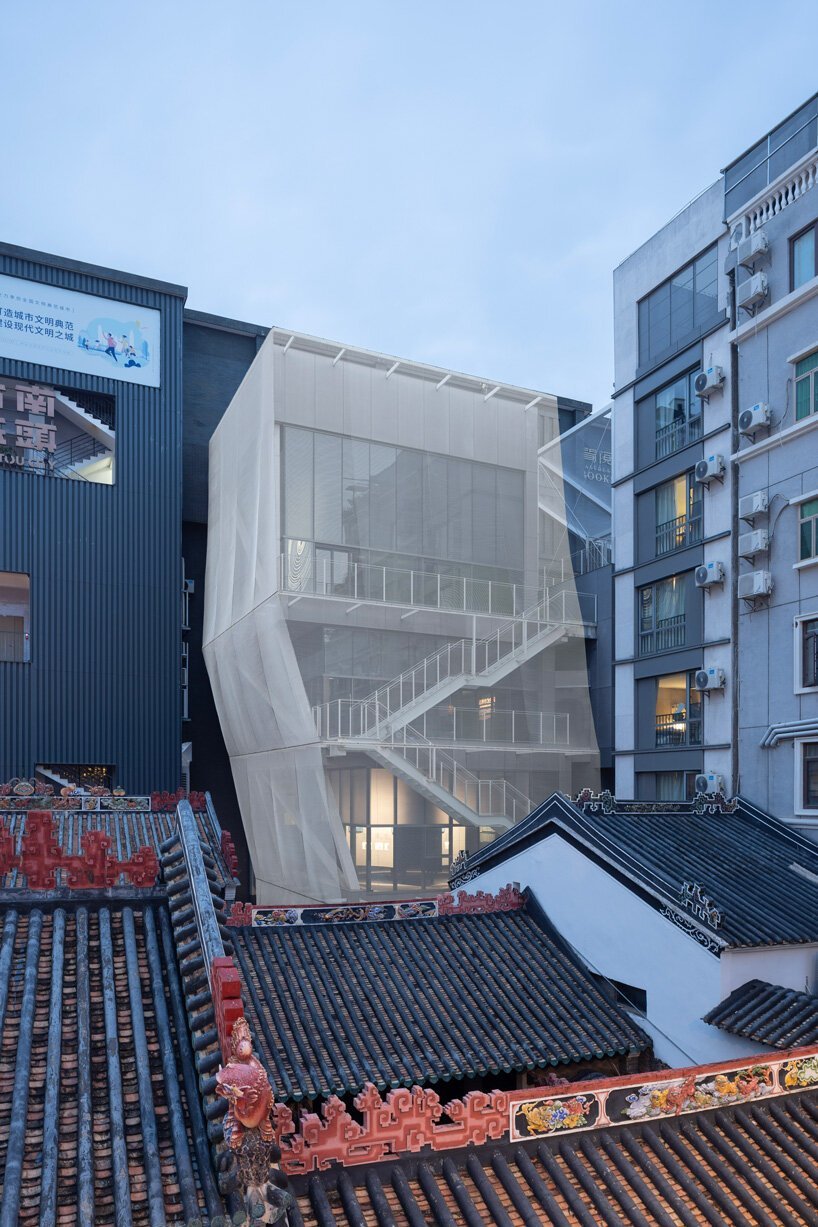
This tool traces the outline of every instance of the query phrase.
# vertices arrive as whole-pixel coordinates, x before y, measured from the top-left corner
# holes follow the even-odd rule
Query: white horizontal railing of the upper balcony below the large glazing
[[[525,584],[506,584],[495,579],[316,558],[312,545],[300,563],[286,552],[280,556],[280,590],[498,617],[522,614],[541,595],[540,590]]]

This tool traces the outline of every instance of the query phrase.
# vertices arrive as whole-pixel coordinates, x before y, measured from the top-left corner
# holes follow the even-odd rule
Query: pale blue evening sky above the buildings
[[[0,239],[590,400],[612,271],[818,90],[814,0],[0,0]]]

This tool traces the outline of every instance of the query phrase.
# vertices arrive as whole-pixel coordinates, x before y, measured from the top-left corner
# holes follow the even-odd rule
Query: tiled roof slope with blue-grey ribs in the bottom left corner
[[[21,893],[0,915],[0,1221],[208,1222],[166,904]]]

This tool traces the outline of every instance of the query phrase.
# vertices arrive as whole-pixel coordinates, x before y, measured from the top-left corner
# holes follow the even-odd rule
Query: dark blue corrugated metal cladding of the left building
[[[184,292],[11,252],[9,276],[158,309],[162,375],[140,388],[0,356],[0,375],[117,399],[113,486],[0,470],[0,571],[31,575],[31,664],[0,663],[0,782],[94,763],[132,793],[175,788]]]

